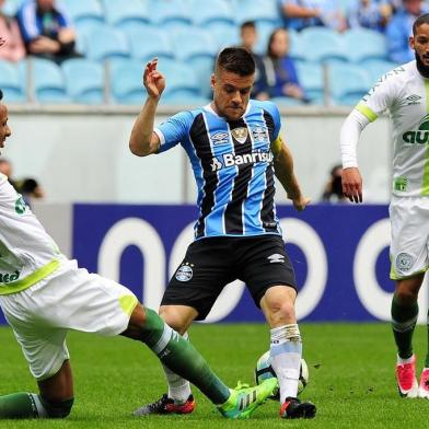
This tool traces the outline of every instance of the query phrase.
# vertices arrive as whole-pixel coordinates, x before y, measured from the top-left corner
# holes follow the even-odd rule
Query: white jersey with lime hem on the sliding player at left
[[[24,290],[53,273],[65,256],[22,196],[0,174],[0,294]]]

